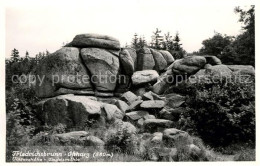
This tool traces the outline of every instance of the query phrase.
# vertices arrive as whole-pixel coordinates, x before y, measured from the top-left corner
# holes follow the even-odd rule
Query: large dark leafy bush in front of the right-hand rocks
[[[232,78],[233,79],[233,78]],[[189,110],[178,128],[199,135],[213,146],[255,141],[255,85],[219,82],[194,84]]]

